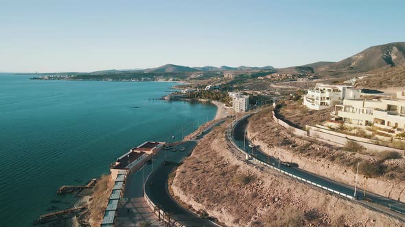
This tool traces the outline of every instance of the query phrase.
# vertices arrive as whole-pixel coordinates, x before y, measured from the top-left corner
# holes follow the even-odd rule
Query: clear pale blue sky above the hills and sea
[[[405,41],[402,2],[0,0],[0,71],[338,61]]]

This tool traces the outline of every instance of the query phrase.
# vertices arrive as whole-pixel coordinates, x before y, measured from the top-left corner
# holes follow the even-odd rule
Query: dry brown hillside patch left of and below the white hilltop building
[[[305,129],[306,124],[321,124],[331,118],[330,112],[334,109],[322,109],[319,111],[308,109],[302,105],[302,100],[298,102],[284,101],[279,103],[275,109],[277,117],[284,122],[288,122],[299,129]]]

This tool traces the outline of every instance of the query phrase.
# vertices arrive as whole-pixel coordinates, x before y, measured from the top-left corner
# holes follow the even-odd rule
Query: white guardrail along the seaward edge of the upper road
[[[255,113],[255,114],[256,114],[256,113]],[[234,140],[233,140],[233,135],[231,135],[231,134],[232,134],[232,127],[235,127],[235,125],[238,124],[238,122],[240,122],[241,120],[244,120],[244,119],[246,119],[246,118],[248,118],[248,117],[250,117],[250,116],[252,116],[252,115],[253,115],[253,114],[248,114],[248,115],[246,115],[246,116],[244,116],[244,117],[242,117],[242,118],[240,118],[240,119],[238,119],[238,120],[234,120],[234,121],[231,122],[231,124],[229,125],[229,126],[231,126],[231,128],[228,128],[228,129],[227,129],[227,136],[228,136],[229,141],[231,142],[231,144],[232,144],[238,151],[242,152],[242,154],[244,154],[244,155],[248,155],[248,154],[247,154],[246,152],[244,152],[244,150],[242,150],[241,148],[239,148],[239,146],[238,146],[237,144],[235,144],[235,142],[234,142]],[[345,194],[345,193],[341,193],[340,191],[336,191],[336,190],[334,190],[334,189],[330,189],[329,187],[325,187],[325,186],[323,186],[323,185],[319,185],[319,184],[314,183],[314,182],[312,182],[312,181],[308,181],[308,180],[306,180],[306,179],[304,179],[304,178],[301,178],[301,177],[299,177],[299,176],[295,176],[294,174],[290,174],[289,172],[286,172],[286,171],[284,171],[284,170],[281,170],[281,169],[279,169],[279,168],[276,168],[275,166],[270,165],[269,163],[265,163],[265,162],[263,162],[263,161],[260,161],[259,159],[255,158],[255,157],[252,156],[252,155],[248,155],[248,156],[249,156],[249,157],[252,157],[252,158],[253,158],[253,161],[255,161],[255,163],[259,163],[259,164],[265,165],[265,166],[267,166],[267,167],[269,167],[269,168],[271,168],[271,169],[273,169],[273,170],[276,170],[276,171],[278,171],[278,172],[281,172],[282,174],[286,174],[287,176],[290,176],[290,177],[292,177],[292,178],[296,178],[296,179],[299,180],[299,181],[303,181],[303,182],[305,182],[305,183],[308,183],[308,184],[310,184],[310,185],[314,185],[314,186],[319,187],[319,188],[321,188],[321,189],[325,189],[325,190],[330,191],[330,192],[332,192],[332,193],[336,193],[336,194],[339,195],[339,196],[343,196],[343,197],[348,198],[348,199],[351,199],[351,200],[354,200],[354,199],[355,199],[354,196],[349,196],[349,195],[347,195],[347,194]]]

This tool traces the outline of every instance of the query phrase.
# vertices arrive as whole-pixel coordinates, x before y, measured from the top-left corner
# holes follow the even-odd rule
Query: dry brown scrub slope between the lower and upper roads
[[[400,226],[268,168],[255,168],[232,152],[225,125],[214,129],[172,174],[174,197],[224,226]]]

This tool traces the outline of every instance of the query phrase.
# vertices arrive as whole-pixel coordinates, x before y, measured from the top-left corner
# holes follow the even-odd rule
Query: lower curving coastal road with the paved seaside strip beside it
[[[121,208],[117,217],[117,226],[134,226],[142,220],[152,222],[152,226],[162,226],[143,199],[142,185],[151,172],[148,181],[145,182],[145,191],[154,204],[160,205],[163,211],[172,214],[172,219],[184,226],[217,226],[208,219],[202,219],[178,204],[167,191],[167,179],[177,164],[191,154],[198,141],[209,133],[214,126],[222,124],[225,120],[217,120],[205,126],[201,130],[204,133],[193,137],[193,140],[189,142],[175,143],[176,152],[173,152],[172,149],[161,150],[157,155],[154,155],[151,164],[144,165],[141,170],[128,176],[124,198],[121,200]],[[185,148],[185,150],[181,151],[181,148]],[[169,161],[168,165],[163,165],[165,159]],[[151,182],[153,182],[153,185]]]

